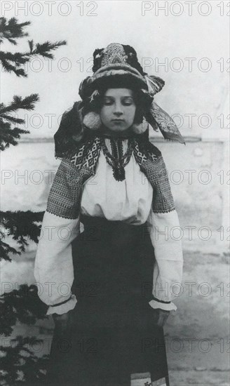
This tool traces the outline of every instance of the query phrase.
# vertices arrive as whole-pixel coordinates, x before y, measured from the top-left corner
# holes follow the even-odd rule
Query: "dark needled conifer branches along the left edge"
[[[0,43],[8,41],[13,46],[18,45],[19,39],[28,36],[26,27],[30,22],[18,22],[16,18],[7,20],[0,18]],[[4,72],[12,73],[13,76],[27,78],[25,65],[31,58],[41,56],[43,58],[53,58],[52,51],[66,44],[66,41],[56,41],[43,44],[34,44],[33,40],[28,40],[28,51],[11,53],[0,51],[1,74]],[[1,76],[2,77],[2,76]],[[25,124],[24,119],[15,116],[19,110],[34,110],[39,95],[33,93],[25,98],[13,95],[12,102],[8,104],[0,103],[0,149],[4,151],[10,146],[18,145],[21,135],[29,131],[20,128]],[[38,243],[41,232],[41,221],[44,212],[32,211],[2,211],[0,212],[0,260],[12,261],[12,255],[18,256],[26,251],[29,241]],[[39,224],[40,223],[40,224]],[[17,247],[11,246],[6,241],[6,237],[12,237],[16,241]],[[8,239],[7,239],[8,240]],[[42,380],[46,369],[47,357],[36,357],[32,347],[41,340],[36,337],[22,337],[18,335],[14,340],[10,337],[13,326],[16,323],[33,325],[38,319],[46,318],[46,305],[41,302],[37,295],[35,285],[27,286],[23,284],[12,291],[5,291],[0,296],[0,376],[1,385],[25,385],[32,386],[37,380]]]

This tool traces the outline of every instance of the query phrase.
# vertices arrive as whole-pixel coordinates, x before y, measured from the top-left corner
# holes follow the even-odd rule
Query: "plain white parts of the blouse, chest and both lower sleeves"
[[[111,152],[111,140],[105,138],[104,142]],[[122,140],[122,146],[125,153],[128,140]],[[170,237],[170,228],[179,226],[177,212],[152,211],[153,187],[133,154],[125,166],[125,173],[125,180],[116,180],[106,154],[101,151],[95,175],[83,184],[80,213],[133,225],[147,222],[156,257],[153,300],[149,305],[162,310],[176,310],[171,300],[176,298],[178,284],[182,281],[182,243]],[[79,216],[76,219],[62,218],[47,210],[44,214],[34,276],[39,297],[49,305],[47,314],[63,314],[77,307],[76,296],[71,293],[74,281],[71,243],[82,230]]]

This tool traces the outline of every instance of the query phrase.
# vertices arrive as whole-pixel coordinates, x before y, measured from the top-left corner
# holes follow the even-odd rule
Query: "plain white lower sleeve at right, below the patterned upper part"
[[[156,300],[149,304],[153,308],[177,310],[171,302],[180,293],[183,267],[182,241],[172,232],[172,228],[180,229],[177,211],[154,213],[151,209],[147,225],[156,258],[152,292]]]

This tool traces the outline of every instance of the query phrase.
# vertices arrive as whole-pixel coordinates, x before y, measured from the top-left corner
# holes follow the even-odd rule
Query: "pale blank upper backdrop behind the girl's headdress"
[[[40,95],[27,119],[33,137],[53,137],[58,117],[79,99],[80,81],[92,74],[93,51],[111,42],[133,46],[145,71],[165,80],[156,102],[177,114],[182,134],[226,137],[228,1],[3,1],[1,13],[31,21],[28,39],[36,43],[67,40],[55,60],[32,59],[27,79],[1,72],[4,102]],[[10,48],[26,51],[27,39]]]

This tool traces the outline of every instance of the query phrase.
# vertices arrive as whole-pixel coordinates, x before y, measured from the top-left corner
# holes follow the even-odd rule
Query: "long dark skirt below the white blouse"
[[[130,386],[168,378],[163,328],[150,307],[154,248],[147,225],[81,216],[72,242],[74,327],[53,334],[46,385]]]

